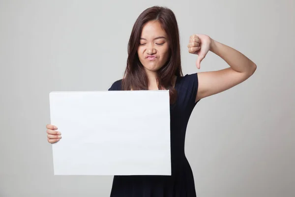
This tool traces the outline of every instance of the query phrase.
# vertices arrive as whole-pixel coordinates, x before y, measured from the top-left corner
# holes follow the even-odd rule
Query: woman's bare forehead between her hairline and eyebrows
[[[160,22],[149,21],[143,26],[141,37],[148,39],[148,38],[154,38],[158,36],[167,37],[167,34],[162,29]]]

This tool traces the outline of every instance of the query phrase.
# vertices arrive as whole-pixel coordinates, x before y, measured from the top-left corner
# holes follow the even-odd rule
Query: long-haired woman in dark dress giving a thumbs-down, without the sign
[[[230,67],[218,71],[182,75],[178,26],[174,13],[165,7],[150,7],[134,24],[123,79],[113,90],[170,90],[171,176],[115,176],[111,197],[195,197],[191,167],[184,154],[186,126],[196,103],[245,81],[256,65],[235,49],[207,35],[190,36],[189,53],[197,54],[197,67],[208,51]],[[60,132],[47,126],[48,142],[60,140]]]

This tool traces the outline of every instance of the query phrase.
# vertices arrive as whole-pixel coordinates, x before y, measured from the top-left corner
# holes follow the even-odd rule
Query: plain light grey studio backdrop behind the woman
[[[232,46],[258,68],[246,82],[201,100],[186,156],[198,197],[295,196],[294,0],[0,0],[0,197],[108,197],[112,176],[54,176],[49,92],[100,91],[122,77],[138,15],[171,8],[183,72],[193,33]]]

